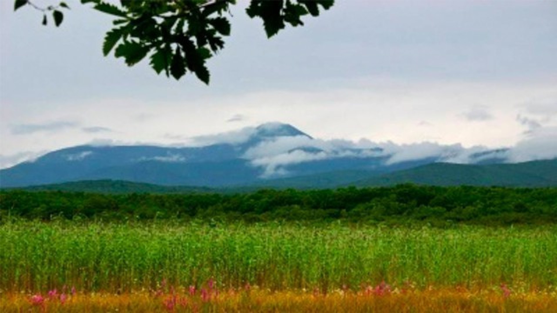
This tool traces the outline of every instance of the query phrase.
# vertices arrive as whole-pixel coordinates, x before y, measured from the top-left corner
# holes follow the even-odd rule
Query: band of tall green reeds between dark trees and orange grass
[[[557,226],[452,229],[337,223],[13,222],[0,225],[0,290],[84,291],[247,282],[271,290],[362,283],[557,286]]]

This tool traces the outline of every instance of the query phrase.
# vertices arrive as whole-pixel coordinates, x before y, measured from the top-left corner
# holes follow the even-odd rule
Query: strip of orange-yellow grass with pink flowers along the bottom
[[[42,298],[41,298],[42,297]],[[65,299],[64,299],[65,298]],[[41,300],[42,299],[42,300]],[[61,300],[63,299],[63,301]],[[557,292],[505,292],[504,288],[466,290],[287,290],[258,288],[217,291],[138,291],[126,294],[57,292],[0,294],[0,312],[557,312]]]

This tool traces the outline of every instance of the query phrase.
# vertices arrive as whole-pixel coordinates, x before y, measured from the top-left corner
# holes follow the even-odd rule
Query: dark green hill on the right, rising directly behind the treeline
[[[356,180],[359,187],[402,183],[507,187],[557,186],[557,159],[515,164],[432,163],[394,173]]]

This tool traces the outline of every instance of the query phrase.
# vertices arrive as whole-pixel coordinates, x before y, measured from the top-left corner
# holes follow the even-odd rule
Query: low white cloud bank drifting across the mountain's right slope
[[[243,143],[254,134],[253,128],[212,136],[213,140],[232,139]],[[209,138],[209,137],[206,137]],[[221,141],[224,143],[227,141]],[[350,141],[343,139],[321,140],[304,135],[276,136],[261,140],[248,148],[242,158],[254,167],[263,169],[262,177],[280,177],[289,174],[288,167],[315,160],[338,158],[375,158],[383,165],[393,165],[414,160],[429,159],[433,162],[470,164],[496,160],[497,162],[526,162],[557,157],[557,127],[536,125],[514,146],[487,148],[465,147],[461,144],[439,144],[429,141],[414,144],[396,144],[392,141],[374,142],[369,139]]]

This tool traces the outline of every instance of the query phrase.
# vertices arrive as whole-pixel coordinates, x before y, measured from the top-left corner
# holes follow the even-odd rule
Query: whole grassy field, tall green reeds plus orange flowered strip
[[[557,308],[556,226],[20,221],[0,247],[0,311]]]

